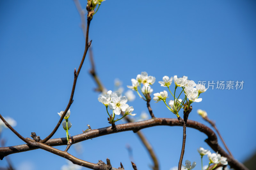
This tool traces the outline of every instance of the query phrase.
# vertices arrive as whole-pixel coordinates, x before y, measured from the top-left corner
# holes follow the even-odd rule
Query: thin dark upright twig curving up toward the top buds
[[[73,103],[73,96],[74,96],[74,92],[75,92],[75,88],[76,88],[76,80],[77,80],[77,77],[79,75],[79,72],[82,68],[82,65],[84,63],[84,59],[85,59],[85,56],[86,56],[86,53],[88,51],[88,34],[89,34],[89,26],[90,26],[90,21],[87,22],[87,30],[86,30],[86,40],[85,40],[85,49],[84,49],[84,55],[83,55],[83,58],[82,58],[82,61],[79,65],[79,68],[78,70],[74,71],[74,82],[73,82],[73,87],[72,87],[72,91],[71,91],[71,95],[70,95],[70,99],[69,99],[69,102],[68,102],[68,106],[66,107],[64,113],[61,115],[60,117],[60,120],[59,122],[57,123],[56,127],[53,129],[52,133],[50,135],[48,135],[44,140],[41,140],[40,142],[42,143],[45,143],[46,141],[48,141],[53,135],[54,133],[57,131],[57,129],[59,128],[61,122],[63,121],[66,113],[68,112],[68,109],[69,107],[71,106],[71,104]]]

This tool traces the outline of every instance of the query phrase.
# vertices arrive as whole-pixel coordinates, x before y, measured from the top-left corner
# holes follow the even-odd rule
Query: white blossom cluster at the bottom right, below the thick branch
[[[204,149],[202,147],[200,147],[199,149],[197,149],[197,151],[199,152],[200,156],[201,156],[201,160],[203,158],[204,155],[207,155],[208,159],[209,159],[209,165],[208,168],[211,164],[219,164],[221,163],[222,165],[228,165],[228,161],[227,158],[221,156],[218,152],[217,153],[211,153],[208,149]],[[202,168],[203,168],[203,163],[202,163]],[[207,168],[207,169],[208,169]]]

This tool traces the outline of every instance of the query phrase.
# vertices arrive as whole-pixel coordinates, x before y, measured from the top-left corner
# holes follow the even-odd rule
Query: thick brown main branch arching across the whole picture
[[[100,128],[100,129],[91,129],[88,130],[85,133],[73,136],[73,142],[74,144],[77,142],[81,142],[84,140],[92,139],[95,137],[100,137],[108,134],[123,132],[123,131],[129,131],[132,130],[134,132],[139,131],[140,129],[153,127],[153,126],[181,126],[179,120],[177,119],[171,119],[171,118],[155,118],[155,119],[149,119],[146,121],[141,122],[132,122],[132,123],[125,123],[125,124],[119,124],[116,125],[116,131],[113,131],[111,126]],[[248,170],[243,164],[232,158],[230,155],[228,155],[218,144],[218,139],[214,131],[210,129],[209,127],[205,126],[204,124],[192,120],[188,120],[187,127],[194,128],[199,130],[200,132],[203,132],[207,135],[207,139],[205,142],[215,151],[219,152],[221,156],[224,156],[227,158],[228,164],[231,166],[231,168],[234,169],[241,169],[241,170]],[[49,146],[59,146],[59,145],[67,145],[67,138],[56,138],[56,139],[50,139],[45,144]],[[29,150],[37,149],[36,147],[31,147],[28,144],[22,144],[17,146],[9,146],[9,147],[2,147],[0,148],[0,159],[3,159],[4,156],[7,156],[12,153],[17,152],[24,152]]]

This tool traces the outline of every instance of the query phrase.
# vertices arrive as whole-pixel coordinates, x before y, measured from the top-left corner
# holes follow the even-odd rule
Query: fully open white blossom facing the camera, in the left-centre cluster
[[[129,105],[126,104],[126,102],[128,101],[127,98],[125,96],[123,97],[118,97],[117,95],[113,95],[111,98],[112,103],[109,103],[109,108],[111,110],[114,109],[114,113],[116,115],[120,115],[121,110],[125,111],[125,109],[127,107],[129,107]]]

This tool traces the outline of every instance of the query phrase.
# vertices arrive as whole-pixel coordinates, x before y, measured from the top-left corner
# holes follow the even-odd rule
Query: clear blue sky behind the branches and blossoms
[[[83,8],[86,1],[80,1]],[[84,52],[80,17],[73,1],[1,1],[0,2],[0,113],[17,121],[15,129],[24,137],[36,132],[46,137],[59,120],[57,112],[68,104],[73,71]],[[255,1],[118,1],[107,0],[94,15],[90,38],[97,73],[108,90],[115,78],[131,85],[131,78],[147,71],[156,77],[154,93],[166,90],[158,84],[162,77],[188,76],[194,81],[244,81],[242,90],[208,89],[202,102],[193,103],[189,119],[204,122],[197,109],[206,110],[223,135],[234,157],[244,161],[256,150],[253,113],[256,54]],[[87,124],[92,129],[109,126],[105,107],[88,71],[86,57],[78,77],[69,120],[69,133],[77,135]],[[251,86],[252,85],[252,86]],[[174,86],[171,86],[174,89]],[[170,95],[170,93],[169,93]],[[134,113],[146,111],[146,103],[136,96],[129,102]],[[175,118],[163,102],[151,102],[156,117]],[[137,116],[137,115],[136,115]],[[118,122],[122,123],[122,122]],[[181,127],[152,127],[142,130],[153,145],[161,169],[178,165]],[[60,128],[53,136],[65,137]],[[4,129],[6,145],[23,144]],[[210,149],[206,136],[187,129],[184,160],[200,165],[197,148]],[[109,158],[114,167],[120,161],[132,169],[127,144],[139,169],[149,169],[147,151],[133,132],[95,138],[81,143],[83,153],[70,152],[80,159],[96,163]],[[57,148],[64,150],[65,146]],[[95,150],[100,149],[100,152]],[[115,150],[115,152],[113,152]],[[35,156],[36,155],[36,156]],[[31,169],[60,169],[66,159],[43,150],[10,155],[19,170],[27,163]],[[204,159],[207,164],[207,159]],[[1,161],[5,166],[6,161]],[[86,168],[84,168],[86,169]],[[200,169],[197,166],[196,169]]]

